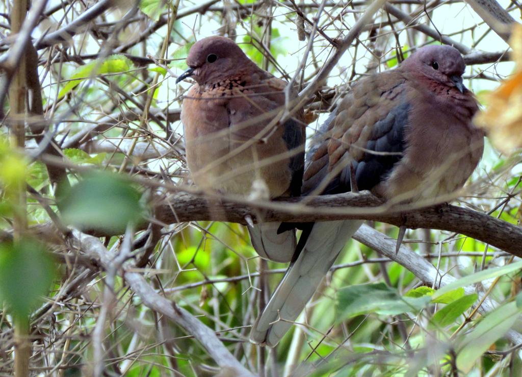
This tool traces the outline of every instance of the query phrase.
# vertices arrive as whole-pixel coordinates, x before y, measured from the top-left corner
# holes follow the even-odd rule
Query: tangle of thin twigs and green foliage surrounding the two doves
[[[31,375],[101,375],[100,362],[103,375],[234,374],[220,371],[219,360],[193,334],[144,304],[126,284],[122,266],[142,274],[151,289],[215,331],[255,374],[519,375],[520,344],[513,339],[522,331],[520,266],[518,258],[502,250],[461,234],[407,231],[405,244],[437,268],[437,279],[457,279],[439,292],[352,240],[299,318],[303,325],[293,326],[277,348],[265,350],[248,342],[250,325],[260,297],[268,297],[286,265],[260,261],[246,229],[235,223],[163,224],[155,219],[155,204],[174,203],[180,193],[194,192],[179,121],[190,85],[174,84],[194,41],[229,36],[259,66],[277,77],[295,75],[304,87],[367,4],[46,3],[31,34],[38,57],[31,61],[27,56],[26,64],[38,69],[43,111],[37,115],[45,121],[44,134],[54,138],[59,158],[42,153],[42,142],[31,130],[22,150],[8,141],[8,128],[1,128],[0,375],[14,373],[16,318],[27,316]],[[374,23],[307,102],[309,136],[354,80],[393,69],[415,48],[439,43],[433,35],[461,46],[468,63],[465,83],[486,107],[491,91],[515,69],[506,41],[467,3],[393,0],[388,5],[395,10],[374,15]],[[519,2],[501,5],[520,19]],[[11,2],[0,4],[4,54],[12,8]],[[62,31],[61,39],[56,30]],[[300,66],[311,38],[310,54]],[[12,101],[4,101],[2,109],[11,118]],[[7,116],[2,119],[9,124]],[[63,169],[68,183],[53,180],[49,167]],[[518,225],[521,172],[519,151],[503,155],[488,144],[458,204]],[[16,199],[20,190],[27,191],[23,204]],[[17,217],[27,221],[28,230],[13,232]],[[396,227],[369,225],[397,238]],[[105,234],[100,240],[110,260],[130,242],[127,264],[112,273],[102,268],[100,255],[68,241],[66,226]],[[145,262],[137,263],[144,254]],[[477,284],[476,293],[463,289],[470,284]],[[484,292],[499,309],[477,314],[473,308]]]

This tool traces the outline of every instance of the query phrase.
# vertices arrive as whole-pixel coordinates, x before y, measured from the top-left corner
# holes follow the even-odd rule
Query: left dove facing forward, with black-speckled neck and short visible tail
[[[287,82],[259,68],[231,39],[207,37],[187,56],[191,77],[181,108],[186,160],[194,183],[203,190],[271,199],[299,196],[304,168],[303,111],[279,124],[290,108]],[[290,100],[296,93],[290,90]],[[287,106],[288,105],[288,106]],[[294,230],[278,233],[279,223],[248,227],[257,253],[289,262]]]

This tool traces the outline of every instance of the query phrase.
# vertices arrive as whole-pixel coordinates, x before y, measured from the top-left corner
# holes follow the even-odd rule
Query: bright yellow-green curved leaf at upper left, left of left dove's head
[[[58,93],[58,99],[73,90],[81,81],[100,74],[122,73],[134,68],[133,63],[125,55],[111,55],[104,60],[94,60],[75,69],[73,76]]]

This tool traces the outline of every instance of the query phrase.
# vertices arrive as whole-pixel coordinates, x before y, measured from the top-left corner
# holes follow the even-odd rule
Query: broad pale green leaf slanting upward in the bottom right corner
[[[468,373],[476,360],[514,325],[519,314],[520,309],[515,302],[509,302],[489,313],[473,331],[462,336],[458,346],[457,368]]]

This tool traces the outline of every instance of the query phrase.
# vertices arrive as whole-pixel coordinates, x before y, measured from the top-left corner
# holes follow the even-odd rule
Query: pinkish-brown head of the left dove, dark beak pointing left
[[[254,64],[239,46],[229,38],[207,37],[200,39],[188,52],[188,69],[177,78],[176,83],[193,77],[199,85],[219,83],[234,77]]]

